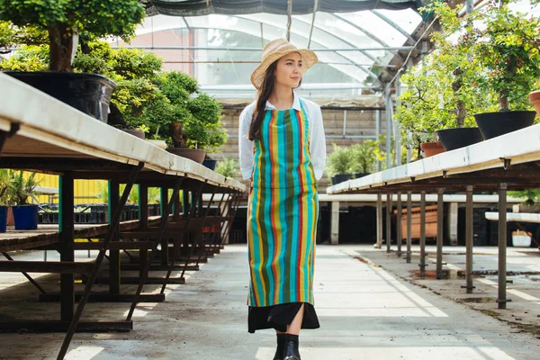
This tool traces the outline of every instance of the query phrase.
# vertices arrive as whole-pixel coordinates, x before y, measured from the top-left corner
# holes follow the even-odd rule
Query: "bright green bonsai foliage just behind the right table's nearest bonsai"
[[[437,130],[473,127],[474,113],[492,109],[491,93],[482,86],[482,67],[471,58],[478,41],[473,21],[480,14],[467,15],[463,21],[458,15],[462,7],[434,3],[420,9],[437,16],[441,29],[431,34],[434,50],[401,76],[406,90],[395,113],[402,139],[417,157],[420,144],[435,141]]]

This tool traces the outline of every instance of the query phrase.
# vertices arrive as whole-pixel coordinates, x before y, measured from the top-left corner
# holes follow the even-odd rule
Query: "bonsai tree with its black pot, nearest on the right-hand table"
[[[485,29],[476,30],[474,58],[485,68],[483,85],[498,94],[499,112],[474,115],[484,139],[491,139],[533,124],[527,94],[540,78],[540,18],[488,4],[482,10]]]

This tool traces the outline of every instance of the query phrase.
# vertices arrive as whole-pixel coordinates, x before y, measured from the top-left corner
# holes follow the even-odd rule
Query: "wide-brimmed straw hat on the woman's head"
[[[300,53],[302,57],[302,71],[305,72],[313,64],[315,64],[319,58],[311,49],[297,49],[292,43],[286,39],[276,39],[268,42],[263,48],[263,56],[261,57],[260,65],[251,74],[251,84],[257,89],[263,84],[265,78],[266,69],[272,65],[272,63],[292,52]]]

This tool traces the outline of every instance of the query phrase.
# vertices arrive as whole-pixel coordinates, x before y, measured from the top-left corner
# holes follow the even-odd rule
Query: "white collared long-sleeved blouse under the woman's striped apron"
[[[320,112],[320,106],[317,103],[303,99],[296,94],[294,94],[294,110],[302,110],[301,101],[309,120],[311,164],[315,170],[315,177],[320,180],[326,166],[326,139],[322,125],[322,112]],[[238,155],[240,157],[240,171],[244,179],[249,179],[253,170],[253,141],[248,138],[248,132],[255,106],[255,102],[250,103],[240,113],[238,126]],[[266,102],[266,110],[268,109],[275,110],[275,106]]]

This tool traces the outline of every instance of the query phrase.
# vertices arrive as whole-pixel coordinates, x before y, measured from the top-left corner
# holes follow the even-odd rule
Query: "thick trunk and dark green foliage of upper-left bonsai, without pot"
[[[78,33],[128,40],[144,15],[144,6],[138,0],[0,0],[0,21],[47,31],[50,71],[73,70],[71,60]]]

